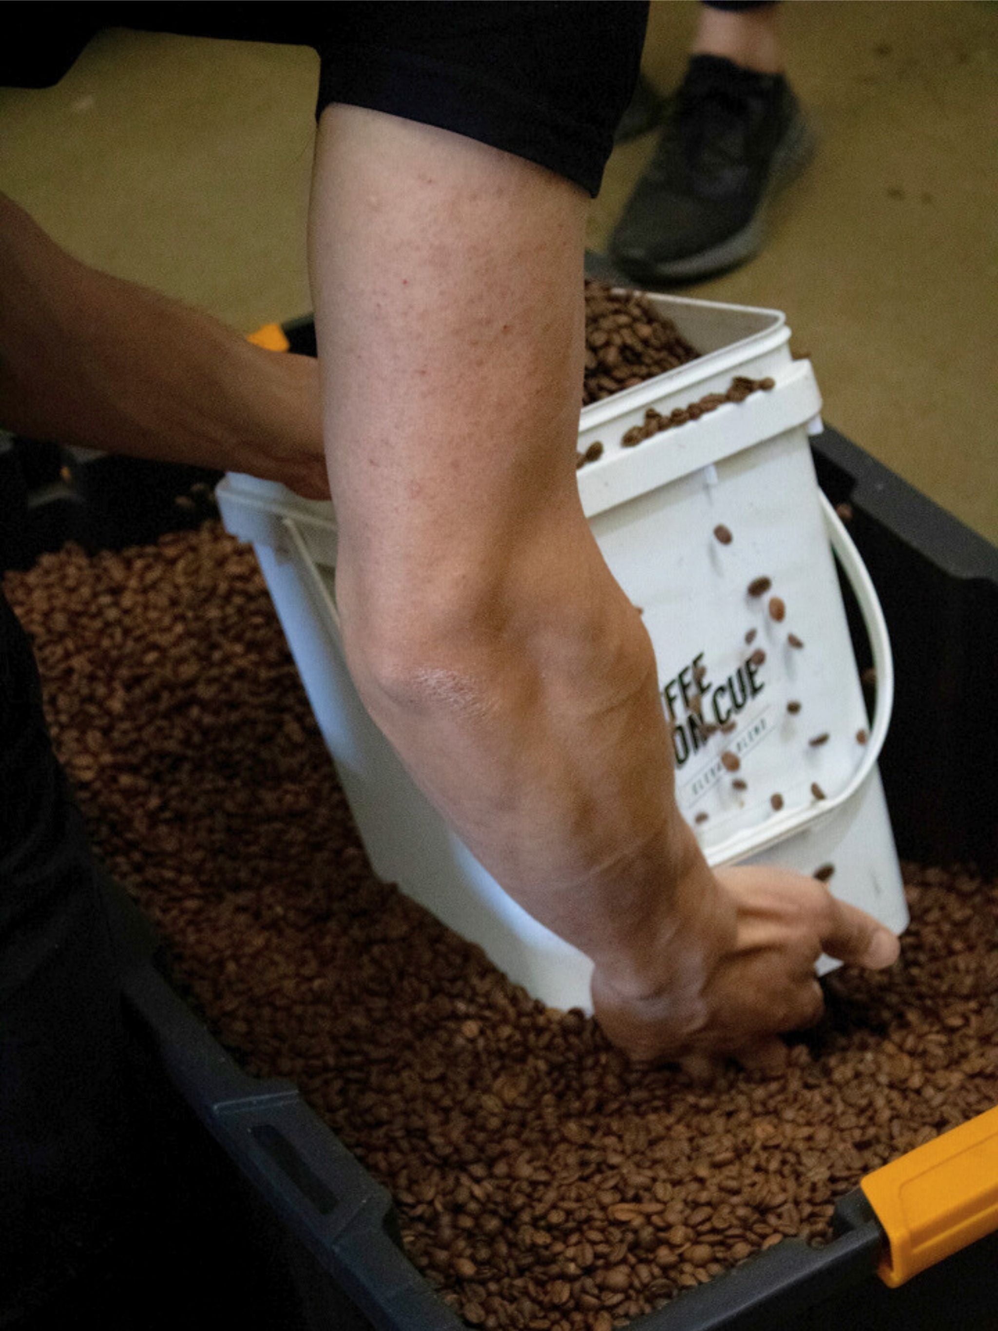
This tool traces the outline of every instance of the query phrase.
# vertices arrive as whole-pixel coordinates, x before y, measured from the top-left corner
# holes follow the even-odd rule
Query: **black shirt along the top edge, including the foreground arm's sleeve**
[[[322,60],[319,113],[339,101],[451,129],[596,194],[637,79],[648,4],[77,4],[60,7],[44,39],[33,12],[4,7],[0,85],[57,83],[102,27],[309,45]]]

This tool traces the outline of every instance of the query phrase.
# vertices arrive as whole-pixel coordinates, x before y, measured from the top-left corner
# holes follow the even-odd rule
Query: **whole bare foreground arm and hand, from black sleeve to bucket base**
[[[575,479],[587,201],[447,130],[322,116],[310,262],[351,672],[512,897],[596,965],[640,1058],[778,1058],[822,948],[897,941],[797,874],[715,874],[679,816],[655,659]]]

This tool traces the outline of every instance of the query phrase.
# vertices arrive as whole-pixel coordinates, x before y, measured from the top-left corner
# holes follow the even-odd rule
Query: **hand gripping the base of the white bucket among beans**
[[[677,928],[680,960],[657,992],[621,993],[597,969],[596,1018],[635,1061],[679,1061],[703,1074],[733,1057],[745,1067],[776,1071],[786,1058],[778,1034],[821,1018],[814,976],[821,953],[878,970],[897,960],[900,944],[816,878],[765,865],[719,869],[712,877],[708,926],[695,921],[685,948]]]

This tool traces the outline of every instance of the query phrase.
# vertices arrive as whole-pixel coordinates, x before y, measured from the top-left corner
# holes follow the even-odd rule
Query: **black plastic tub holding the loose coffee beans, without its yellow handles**
[[[311,319],[285,327],[293,350],[314,354]],[[174,496],[217,476],[129,459],[80,463],[36,449],[15,442],[0,450],[0,473],[12,482],[0,484],[5,507],[27,519],[0,522],[0,538],[21,532],[16,548],[0,539],[0,568],[27,567],[67,539],[116,548],[192,526],[206,508],[178,508]],[[998,551],[837,431],[814,439],[813,453],[825,492],[852,507],[850,532],[893,642],[894,719],[881,772],[898,849],[993,870]],[[866,664],[861,620],[850,618]],[[169,1268],[192,1290],[197,1283],[182,1320],[267,1331],[459,1331],[460,1319],[403,1255],[385,1189],[291,1083],[254,1081],[236,1066],[162,977],[141,914],[109,893],[146,1087],[148,1154],[157,1157],[156,1206],[173,1218],[172,1227],[150,1230],[149,1242],[164,1251],[149,1270],[162,1279]],[[861,1194],[841,1201],[837,1223],[840,1236],[825,1248],[785,1240],[632,1322],[633,1331],[998,1331],[998,1234],[888,1290],[874,1275],[881,1233]],[[177,1226],[190,1233],[170,1247]],[[170,1315],[156,1326],[176,1322]],[[136,1314],[136,1331],[152,1324]]]

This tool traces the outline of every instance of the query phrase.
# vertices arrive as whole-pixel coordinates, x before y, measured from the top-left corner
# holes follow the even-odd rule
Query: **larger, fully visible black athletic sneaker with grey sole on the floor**
[[[812,149],[782,75],[693,56],[655,157],[611,237],[611,258],[643,282],[735,268],[760,249],[766,200]]]

